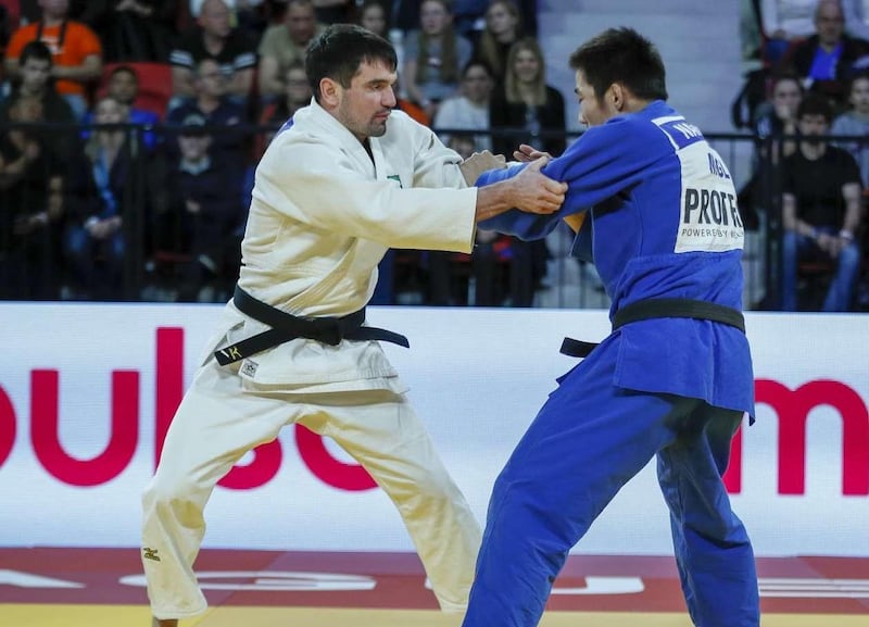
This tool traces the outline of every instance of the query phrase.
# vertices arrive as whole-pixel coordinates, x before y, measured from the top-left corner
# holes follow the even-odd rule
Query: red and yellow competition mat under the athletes
[[[205,549],[181,627],[458,627],[414,553]],[[758,559],[764,627],[869,627],[869,559]],[[137,549],[0,548],[0,627],[150,626]],[[672,557],[571,555],[542,627],[691,627]]]

